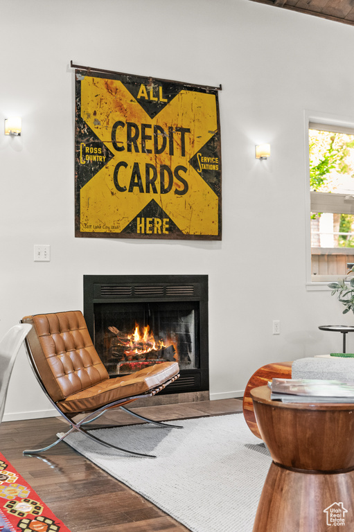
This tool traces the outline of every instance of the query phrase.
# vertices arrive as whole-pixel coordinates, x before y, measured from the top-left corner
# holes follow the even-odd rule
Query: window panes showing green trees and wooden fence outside
[[[354,264],[354,128],[310,122],[311,280]]]

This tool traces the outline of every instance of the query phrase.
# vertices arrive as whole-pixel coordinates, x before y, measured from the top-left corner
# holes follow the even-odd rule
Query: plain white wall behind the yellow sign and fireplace
[[[82,309],[83,274],[209,274],[213,398],[239,395],[263,364],[341,348],[318,326],[353,316],[306,290],[303,115],[354,122],[354,27],[249,0],[0,0],[0,12],[0,131],[23,119],[20,138],[0,134],[1,335],[26,314]],[[74,238],[70,60],[222,84],[222,242]],[[34,244],[51,245],[50,263],[33,262]],[[6,419],[48,408],[21,351]]]

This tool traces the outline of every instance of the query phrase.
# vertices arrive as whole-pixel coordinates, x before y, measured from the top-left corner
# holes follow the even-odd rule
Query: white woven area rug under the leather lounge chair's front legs
[[[78,432],[64,441],[193,532],[252,532],[272,461],[242,414],[132,425],[95,436],[156,459],[109,450]]]

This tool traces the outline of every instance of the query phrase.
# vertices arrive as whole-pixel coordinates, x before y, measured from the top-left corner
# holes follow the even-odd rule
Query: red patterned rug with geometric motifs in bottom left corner
[[[70,532],[0,453],[0,532]]]

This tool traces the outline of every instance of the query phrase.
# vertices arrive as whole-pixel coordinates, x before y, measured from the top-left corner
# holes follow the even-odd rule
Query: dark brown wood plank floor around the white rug
[[[133,409],[132,409],[133,410]],[[154,420],[218,416],[242,411],[242,400],[225,399],[134,409]],[[102,423],[139,423],[116,411]],[[66,443],[46,454],[23,456],[64,430],[58,418],[11,421],[0,425],[0,451],[71,532],[186,532],[182,524],[85,459]],[[222,531],[220,531],[222,532]]]

